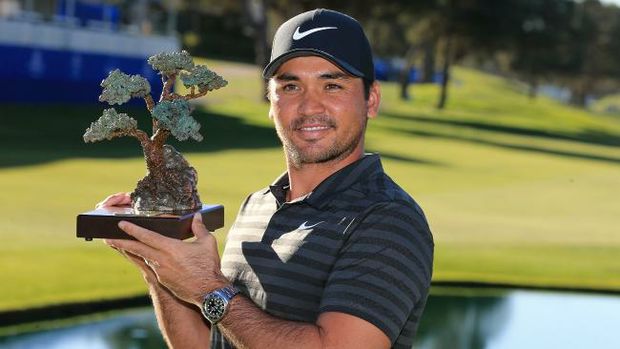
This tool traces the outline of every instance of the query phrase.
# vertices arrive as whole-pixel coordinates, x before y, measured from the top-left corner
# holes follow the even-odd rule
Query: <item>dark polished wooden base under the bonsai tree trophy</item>
[[[224,206],[202,205],[196,211],[202,214],[202,222],[209,231],[224,226]],[[191,227],[194,213],[185,215],[136,214],[131,207],[106,207],[82,213],[77,217],[77,237],[86,241],[92,239],[129,239],[133,237],[118,227],[118,222],[128,221],[162,235],[184,240],[193,237]]]

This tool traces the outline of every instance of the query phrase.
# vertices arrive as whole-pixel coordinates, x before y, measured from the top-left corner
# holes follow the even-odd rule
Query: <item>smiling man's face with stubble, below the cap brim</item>
[[[293,166],[362,156],[366,122],[379,105],[377,84],[366,100],[361,78],[307,56],[282,64],[269,91],[269,115]]]

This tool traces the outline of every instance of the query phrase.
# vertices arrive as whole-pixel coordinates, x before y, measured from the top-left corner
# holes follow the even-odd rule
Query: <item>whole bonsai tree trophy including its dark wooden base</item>
[[[224,225],[222,205],[204,205],[196,189],[196,170],[171,145],[165,144],[172,135],[179,141],[189,138],[202,140],[200,124],[191,116],[189,100],[206,95],[228,83],[205,65],[196,65],[186,52],[165,52],[154,55],[148,63],[161,75],[163,89],[158,102],[151,96],[151,86],[140,75],[128,75],[116,69],[101,82],[101,102],[124,104],[131,98],[143,98],[153,118],[153,133],[138,129],[138,122],[114,108],[105,109],[102,116],[84,133],[85,142],[130,136],[136,138],[144,152],[147,173],[131,193],[132,205],[105,207],[77,217],[77,237],[87,241],[93,238],[131,239],[118,228],[126,220],[162,235],[177,239],[193,236],[192,217],[202,214],[203,223],[210,231]],[[173,91],[180,78],[189,93]]]

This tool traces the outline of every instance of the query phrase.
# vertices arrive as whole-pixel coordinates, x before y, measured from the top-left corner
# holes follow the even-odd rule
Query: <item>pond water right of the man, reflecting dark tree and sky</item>
[[[620,297],[540,291],[429,298],[416,349],[618,349]]]

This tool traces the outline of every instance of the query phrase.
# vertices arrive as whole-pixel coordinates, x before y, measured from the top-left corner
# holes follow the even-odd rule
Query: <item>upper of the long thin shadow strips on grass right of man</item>
[[[431,125],[446,125],[446,126],[456,126],[474,130],[482,130],[482,131],[493,131],[499,133],[507,133],[511,135],[518,136],[534,136],[534,137],[543,137],[549,139],[560,139],[560,140],[569,140],[569,141],[577,141],[588,144],[596,144],[596,145],[605,145],[605,146],[620,146],[620,135],[601,132],[598,130],[582,130],[579,133],[559,133],[559,132],[551,132],[547,130],[539,130],[532,129],[526,127],[516,127],[516,126],[506,126],[506,125],[497,125],[491,123],[483,123],[477,121],[464,121],[464,120],[446,120],[446,119],[438,119],[434,117],[428,116],[420,116],[420,115],[403,115],[397,113],[384,112],[381,114],[385,116],[387,119],[395,119],[395,120],[404,120],[415,123],[426,123]]]

